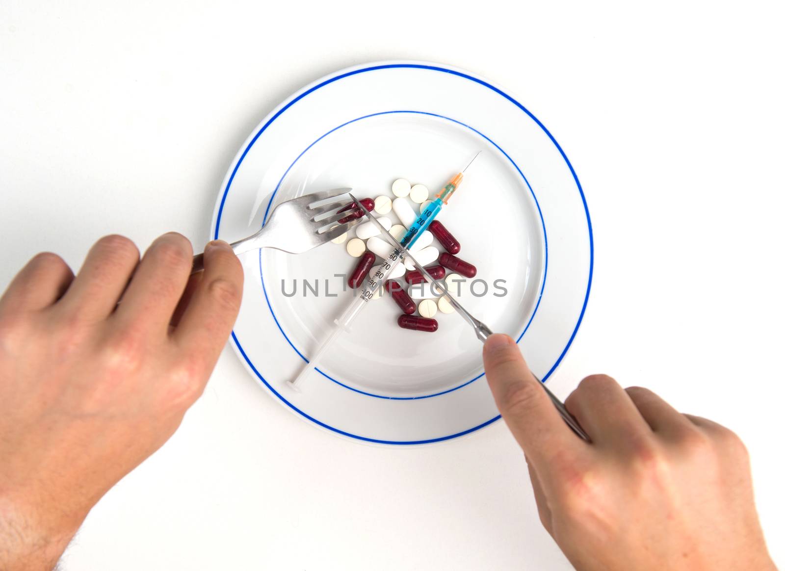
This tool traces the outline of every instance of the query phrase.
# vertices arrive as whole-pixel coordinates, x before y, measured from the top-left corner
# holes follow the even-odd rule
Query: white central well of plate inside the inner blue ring
[[[439,220],[461,242],[458,257],[477,267],[476,277],[462,284],[460,301],[492,330],[517,339],[542,289],[543,223],[517,170],[525,174],[526,165],[516,168],[471,125],[411,112],[350,122],[294,162],[272,207],[333,187],[352,187],[358,198],[394,198],[390,185],[396,178],[425,184],[433,198],[479,150]],[[398,223],[394,213],[387,216]],[[329,335],[334,318],[352,302],[354,292],[345,287],[344,275],[357,260],[346,253],[345,244],[328,243],[300,255],[261,250],[265,295],[292,351],[309,358]],[[400,314],[387,295],[369,302],[319,369],[356,390],[395,398],[449,391],[480,376],[480,341],[457,313],[438,313],[436,333],[400,329]]]

